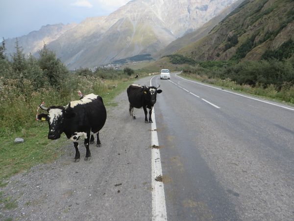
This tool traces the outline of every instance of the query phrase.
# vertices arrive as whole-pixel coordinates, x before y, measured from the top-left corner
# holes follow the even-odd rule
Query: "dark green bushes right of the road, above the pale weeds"
[[[231,61],[204,61],[183,69],[185,74],[207,76],[208,79],[230,79],[240,85],[279,91],[285,82],[294,85],[294,56],[286,60],[261,60],[234,63]]]

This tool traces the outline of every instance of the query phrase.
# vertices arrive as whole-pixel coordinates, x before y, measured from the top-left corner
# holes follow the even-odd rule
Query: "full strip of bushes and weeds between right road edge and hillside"
[[[246,93],[294,104],[294,57],[278,60],[232,63],[199,62],[183,70],[183,75]]]

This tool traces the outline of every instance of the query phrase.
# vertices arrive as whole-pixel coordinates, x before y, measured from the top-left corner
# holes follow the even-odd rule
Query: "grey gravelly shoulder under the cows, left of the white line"
[[[81,161],[73,163],[75,150],[68,141],[54,163],[10,178],[3,193],[18,206],[3,209],[0,219],[151,220],[151,125],[144,123],[143,110],[136,111],[136,120],[129,116],[126,91],[115,102],[118,106],[106,108],[102,147],[90,145],[91,161],[83,160],[80,140]]]

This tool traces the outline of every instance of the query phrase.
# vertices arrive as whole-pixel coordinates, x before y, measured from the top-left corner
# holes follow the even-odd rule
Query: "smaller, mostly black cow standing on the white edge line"
[[[158,86],[160,87],[160,85]],[[156,94],[160,94],[162,90],[157,90],[158,87],[149,86],[147,87],[139,84],[131,84],[127,89],[127,96],[130,102],[130,115],[133,119],[136,119],[134,115],[134,108],[142,108],[145,113],[145,123],[148,123],[147,120],[147,108],[149,109],[149,123],[153,123],[151,119],[151,113],[154,104],[156,103]]]

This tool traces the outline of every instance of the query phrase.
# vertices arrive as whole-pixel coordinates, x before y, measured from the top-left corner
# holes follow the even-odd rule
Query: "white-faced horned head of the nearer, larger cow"
[[[38,115],[39,120],[47,120],[49,124],[49,139],[58,139],[60,135],[63,133],[64,121],[66,119],[73,118],[76,113],[70,108],[71,103],[68,106],[51,106],[49,108],[45,108],[40,106],[40,108],[44,111],[48,111],[48,114],[41,113]]]

